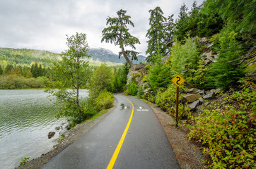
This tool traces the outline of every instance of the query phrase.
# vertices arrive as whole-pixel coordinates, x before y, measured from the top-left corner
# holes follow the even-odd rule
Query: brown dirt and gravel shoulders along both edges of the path
[[[64,137],[62,142],[57,144],[55,149],[52,149],[52,151],[48,152],[47,154],[42,154],[42,156],[28,161],[20,168],[35,169],[42,167],[42,165],[45,165],[45,163],[50,161],[52,157],[56,156],[57,154],[59,154],[59,152],[66,149],[67,146],[83,136],[83,134],[88,132],[88,130],[91,130],[94,125],[98,124],[100,120],[105,118],[115,108],[116,104],[117,103],[115,101],[113,108],[110,108],[107,113],[100,115],[95,120],[91,120],[89,122],[78,125],[74,128],[74,130],[72,130],[69,136]],[[169,139],[170,145],[173,147],[173,151],[178,160],[178,163],[180,163],[180,168],[206,168],[206,166],[204,166],[204,163],[202,163],[202,159],[206,160],[206,157],[202,156],[202,152],[200,151],[199,147],[197,147],[195,144],[187,139],[187,133],[185,132],[185,128],[175,127],[175,120],[171,118],[170,115],[161,111],[161,108],[158,108],[158,106],[153,104],[150,105],[153,111],[156,113],[156,116],[158,117],[161,125],[163,126],[163,130],[165,131],[165,134]]]

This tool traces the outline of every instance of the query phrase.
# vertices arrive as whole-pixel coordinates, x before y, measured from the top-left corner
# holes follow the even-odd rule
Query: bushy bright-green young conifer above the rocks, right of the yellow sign
[[[219,38],[219,51],[220,55],[217,59],[218,62],[213,63],[209,68],[206,75],[206,87],[208,88],[222,88],[228,89],[228,86],[237,82],[241,77],[245,75],[244,65],[234,65],[234,63],[227,63],[240,58],[241,49],[240,44],[235,40],[237,34],[234,31],[221,32]]]

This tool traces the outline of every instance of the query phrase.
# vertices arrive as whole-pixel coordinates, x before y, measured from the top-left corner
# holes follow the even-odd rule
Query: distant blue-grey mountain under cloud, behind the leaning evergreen
[[[124,56],[119,56],[114,54],[112,51],[103,48],[92,48],[88,51],[88,54],[91,55],[93,61],[102,61],[102,62],[114,62],[114,63],[124,63]],[[138,61],[132,61],[132,63],[144,62],[146,59],[145,56],[139,55]]]

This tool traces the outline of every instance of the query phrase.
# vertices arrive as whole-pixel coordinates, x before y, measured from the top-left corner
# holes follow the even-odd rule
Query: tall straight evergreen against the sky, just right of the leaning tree
[[[146,37],[149,38],[148,49],[146,54],[149,56],[146,61],[155,63],[158,58],[158,50],[162,55],[166,54],[166,44],[165,44],[165,22],[166,18],[163,16],[163,11],[159,6],[153,10],[149,10],[150,18],[149,25],[151,26],[146,33]]]

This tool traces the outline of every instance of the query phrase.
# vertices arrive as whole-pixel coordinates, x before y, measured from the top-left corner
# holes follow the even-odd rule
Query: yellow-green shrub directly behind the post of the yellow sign
[[[185,90],[186,87],[181,86],[180,91]],[[182,97],[184,94],[179,94],[179,118],[190,118],[190,110],[187,105],[181,104]],[[170,85],[168,89],[159,89],[156,94],[156,104],[163,110],[168,111],[170,115],[176,117],[175,109],[176,109],[176,87],[174,85]]]

